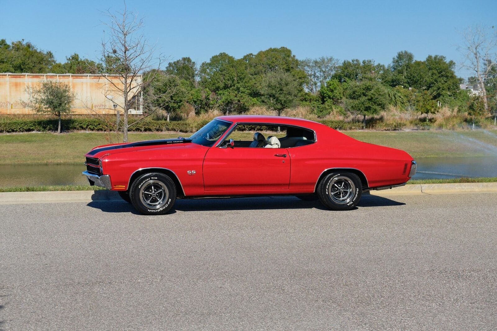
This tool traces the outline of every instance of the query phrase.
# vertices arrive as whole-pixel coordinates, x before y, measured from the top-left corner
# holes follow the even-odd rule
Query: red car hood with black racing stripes
[[[165,147],[177,146],[180,144],[190,144],[191,139],[186,138],[172,138],[172,139],[157,139],[157,140],[144,140],[129,143],[109,144],[97,146],[86,153],[85,156],[100,158],[106,154],[113,154],[115,152],[126,152],[130,150],[142,150],[151,147]]]

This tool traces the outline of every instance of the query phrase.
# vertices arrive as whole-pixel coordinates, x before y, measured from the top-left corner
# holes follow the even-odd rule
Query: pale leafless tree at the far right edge
[[[485,112],[489,113],[489,101],[485,83],[496,74],[497,65],[497,33],[481,25],[469,27],[461,33],[464,44],[458,50],[464,56],[462,67],[475,72],[476,79],[482,89]]]

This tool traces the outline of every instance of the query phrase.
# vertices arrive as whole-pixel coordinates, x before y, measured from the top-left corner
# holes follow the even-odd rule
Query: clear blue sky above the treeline
[[[146,1],[128,0],[144,17],[144,32],[175,60],[200,64],[220,52],[236,58],[269,47],[290,48],[299,59],[333,56],[388,64],[400,50],[444,55],[460,62],[458,30],[496,25],[497,1]],[[0,0],[0,38],[24,39],[58,61],[79,53],[97,58],[110,1]],[[456,72],[467,76],[459,66]]]

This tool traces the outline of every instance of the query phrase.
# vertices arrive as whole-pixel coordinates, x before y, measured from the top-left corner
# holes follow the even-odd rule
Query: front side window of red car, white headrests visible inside
[[[221,146],[230,139],[235,141],[234,147],[279,148],[279,138],[286,136],[287,127],[266,124],[239,124],[226,138]],[[275,137],[275,138],[271,138]]]

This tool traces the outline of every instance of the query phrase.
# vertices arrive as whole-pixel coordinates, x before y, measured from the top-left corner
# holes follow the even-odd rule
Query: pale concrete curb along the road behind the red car
[[[391,190],[370,191],[371,195],[410,196],[463,193],[497,193],[497,183],[414,184]],[[115,191],[2,192],[0,204],[122,201]]]

